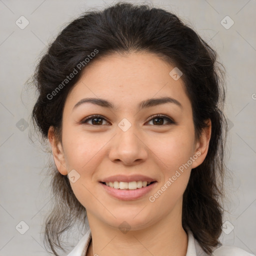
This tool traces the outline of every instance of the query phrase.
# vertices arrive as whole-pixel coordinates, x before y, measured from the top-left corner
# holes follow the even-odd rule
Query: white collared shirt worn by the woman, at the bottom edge
[[[186,256],[208,256],[197,240],[193,237],[192,232],[187,230],[188,243],[187,243],[187,251]],[[76,246],[70,251],[67,256],[85,256],[87,252],[87,248],[89,242],[91,240],[91,232],[90,229],[82,236]],[[248,253],[247,251],[234,247],[234,246],[225,246],[220,245],[216,248],[212,254],[212,256],[255,256],[254,254]]]

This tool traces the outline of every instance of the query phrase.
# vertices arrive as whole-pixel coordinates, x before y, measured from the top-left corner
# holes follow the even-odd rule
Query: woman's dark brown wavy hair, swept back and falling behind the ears
[[[95,49],[98,53],[85,61],[88,55],[96,52]],[[46,140],[52,125],[61,141],[62,111],[68,92],[94,59],[116,52],[152,52],[174,63],[183,73],[181,78],[191,101],[196,137],[205,127],[205,120],[211,120],[206,158],[191,171],[182,205],[183,227],[190,228],[203,250],[210,254],[219,244],[223,213],[226,134],[222,112],[225,97],[223,71],[216,61],[216,52],[175,14],[148,5],[119,2],[102,11],[85,12],[70,22],[49,45],[33,75],[33,84],[38,91],[32,111],[34,126]],[[80,69],[78,63],[83,63]],[[77,74],[63,84],[74,68]],[[61,83],[63,86],[59,86]],[[56,91],[57,87],[61,89]],[[52,91],[56,92],[54,96]],[[68,177],[61,175],[54,164],[49,169],[55,203],[45,221],[44,238],[58,255],[55,249],[63,249],[61,234],[76,221],[84,224],[86,210],[74,196]]]

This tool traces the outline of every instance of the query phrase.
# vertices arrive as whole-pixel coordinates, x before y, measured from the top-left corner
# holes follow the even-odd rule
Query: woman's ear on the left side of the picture
[[[56,165],[58,171],[62,175],[67,175],[63,147],[62,147],[61,142],[56,139],[56,136],[54,134],[54,130],[53,130],[52,126],[50,126],[48,129],[48,139],[51,144],[53,159],[54,159],[54,162],[55,162],[55,165]]]

